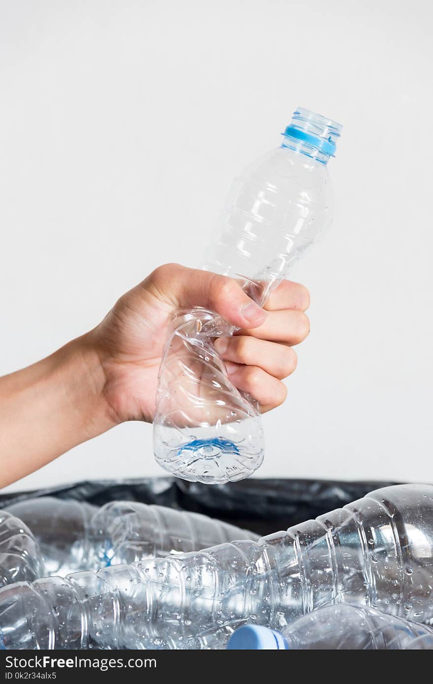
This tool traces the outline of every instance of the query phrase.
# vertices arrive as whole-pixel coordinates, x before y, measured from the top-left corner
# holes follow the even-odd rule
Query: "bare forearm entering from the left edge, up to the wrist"
[[[0,378],[0,486],[115,425],[98,354],[83,336]]]

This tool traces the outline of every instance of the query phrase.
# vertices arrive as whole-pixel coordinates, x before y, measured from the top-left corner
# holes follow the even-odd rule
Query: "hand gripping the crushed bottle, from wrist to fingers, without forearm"
[[[152,422],[173,313],[194,306],[215,311],[239,328],[234,337],[215,342],[231,382],[253,396],[262,412],[284,401],[287,390],[281,380],[296,368],[292,347],[309,332],[307,289],[284,280],[264,310],[233,278],[167,264],[124,294],[85,336],[100,359],[102,395],[113,424]]]

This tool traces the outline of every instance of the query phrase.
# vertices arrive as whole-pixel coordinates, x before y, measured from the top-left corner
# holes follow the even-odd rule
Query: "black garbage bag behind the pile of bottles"
[[[395,482],[339,482],[316,479],[245,479],[206,485],[176,477],[83,480],[76,484],[0,495],[0,508],[31,497],[77,499],[95,505],[141,501],[204,513],[265,535],[341,508],[367,492]]]

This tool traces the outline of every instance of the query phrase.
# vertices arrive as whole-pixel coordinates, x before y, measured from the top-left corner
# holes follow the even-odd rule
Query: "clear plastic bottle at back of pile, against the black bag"
[[[205,515],[137,501],[112,501],[97,508],[40,497],[19,501],[8,510],[31,526],[49,576],[198,551],[233,539],[257,539],[251,531]],[[29,579],[36,577],[41,575]]]

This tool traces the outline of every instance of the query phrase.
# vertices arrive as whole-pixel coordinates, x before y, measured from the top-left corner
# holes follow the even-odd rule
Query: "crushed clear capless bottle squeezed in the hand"
[[[341,126],[301,107],[281,147],[234,181],[221,234],[204,269],[238,278],[261,306],[294,259],[331,222],[328,168]],[[208,484],[248,477],[260,466],[264,438],[257,402],[230,382],[213,341],[235,328],[212,311],[180,311],[159,371],[154,453],[177,477]]]

